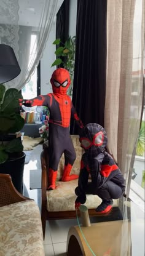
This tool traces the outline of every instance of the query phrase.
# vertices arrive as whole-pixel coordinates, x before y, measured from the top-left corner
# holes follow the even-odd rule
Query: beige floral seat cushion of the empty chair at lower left
[[[44,256],[39,208],[34,201],[0,207],[0,256]]]

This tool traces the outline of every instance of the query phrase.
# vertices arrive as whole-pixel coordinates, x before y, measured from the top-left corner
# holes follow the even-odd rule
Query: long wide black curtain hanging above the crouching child
[[[72,102],[84,124],[104,126],[107,0],[78,0]],[[78,134],[71,120],[71,134]]]

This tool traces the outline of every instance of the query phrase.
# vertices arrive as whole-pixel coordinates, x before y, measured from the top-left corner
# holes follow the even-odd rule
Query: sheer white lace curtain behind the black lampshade
[[[21,73],[6,83],[18,90],[25,86],[42,57],[52,28],[58,0],[1,0],[0,43],[14,49]],[[30,53],[31,36],[36,34]]]

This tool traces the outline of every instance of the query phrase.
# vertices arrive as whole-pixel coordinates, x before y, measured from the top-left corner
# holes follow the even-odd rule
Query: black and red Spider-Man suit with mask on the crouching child
[[[122,196],[125,191],[125,180],[122,172],[105,147],[108,137],[99,124],[87,124],[80,131],[80,146],[84,148],[80,164],[78,186],[75,190],[76,208],[86,201],[86,194],[96,194],[102,202],[96,212],[106,213],[112,208],[113,200]],[[88,182],[88,177],[92,182]]]

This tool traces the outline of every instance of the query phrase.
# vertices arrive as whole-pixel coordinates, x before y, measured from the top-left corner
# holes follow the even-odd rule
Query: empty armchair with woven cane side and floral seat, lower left
[[[9,174],[0,174],[0,230],[0,255],[45,255],[39,207],[18,193]]]

